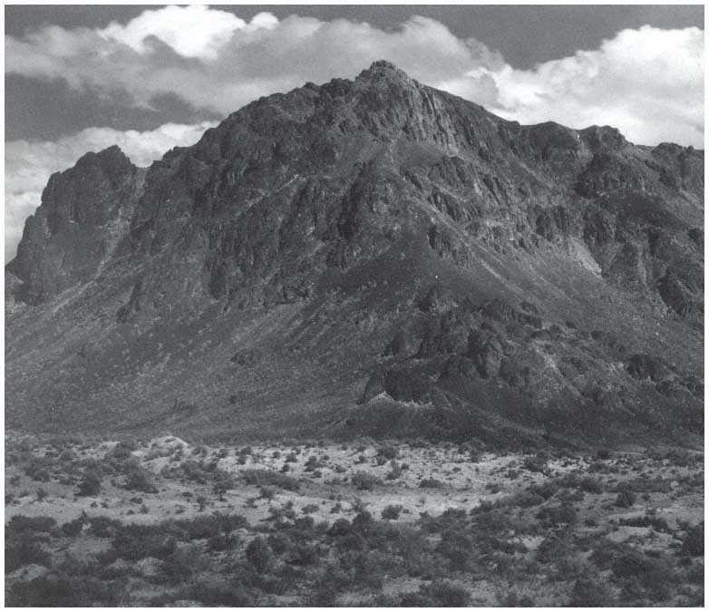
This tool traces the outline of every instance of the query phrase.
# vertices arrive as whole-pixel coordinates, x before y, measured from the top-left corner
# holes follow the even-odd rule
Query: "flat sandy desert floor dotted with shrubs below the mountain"
[[[473,464],[466,445],[363,446],[357,464],[355,444],[310,444],[299,462],[286,461],[297,453],[283,445],[195,452],[153,442],[147,453],[134,442],[102,451],[87,445],[57,451],[61,471],[39,488],[24,466],[44,449],[20,457],[11,446],[18,461],[6,480],[7,603],[40,605],[35,593],[56,605],[106,607],[704,600],[702,516],[675,519],[695,507],[685,500],[703,501],[702,463],[692,457],[678,454],[675,465],[665,454],[613,453],[588,463],[571,454],[487,452]],[[292,471],[282,473],[283,465]],[[328,472],[314,481],[314,466],[335,471],[336,480]],[[12,484],[15,473],[21,478]],[[674,482],[669,493],[666,481]],[[41,505],[39,489],[51,491]],[[27,516],[51,511],[55,499],[76,508],[61,525]],[[661,510],[667,503],[673,513]]]

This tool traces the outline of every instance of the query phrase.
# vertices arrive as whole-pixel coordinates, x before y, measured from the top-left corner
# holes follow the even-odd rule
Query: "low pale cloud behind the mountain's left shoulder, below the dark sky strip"
[[[5,143],[5,261],[15,257],[24,220],[40,205],[53,172],[71,168],[88,151],[117,144],[137,166],[148,166],[172,147],[189,146],[215,123],[166,123],[152,131],[88,128],[58,141]]]

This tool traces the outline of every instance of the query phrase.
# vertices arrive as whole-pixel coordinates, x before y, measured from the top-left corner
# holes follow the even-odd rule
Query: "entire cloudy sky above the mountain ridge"
[[[506,119],[704,148],[702,5],[5,5],[5,261],[84,152],[147,166],[379,59]]]

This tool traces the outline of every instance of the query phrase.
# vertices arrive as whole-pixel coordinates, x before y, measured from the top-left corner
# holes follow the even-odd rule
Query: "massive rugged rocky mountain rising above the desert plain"
[[[5,423],[693,443],[703,253],[704,151],[377,62],[53,175],[5,270]]]

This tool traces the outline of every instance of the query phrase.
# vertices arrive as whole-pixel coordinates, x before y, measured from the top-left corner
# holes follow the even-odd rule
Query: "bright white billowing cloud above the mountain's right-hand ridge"
[[[534,70],[475,69],[448,88],[463,96],[488,83],[490,110],[522,123],[613,125],[630,141],[704,147],[704,32],[648,25],[595,51]]]

